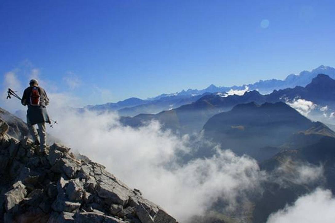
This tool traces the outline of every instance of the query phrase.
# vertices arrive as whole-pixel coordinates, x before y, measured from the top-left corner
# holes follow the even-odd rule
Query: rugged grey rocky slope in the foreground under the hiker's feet
[[[59,144],[39,155],[6,127],[0,120],[0,222],[176,223],[103,165]]]

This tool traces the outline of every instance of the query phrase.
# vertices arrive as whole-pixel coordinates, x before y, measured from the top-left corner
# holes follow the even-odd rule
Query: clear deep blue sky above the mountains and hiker
[[[282,79],[335,66],[334,8],[299,0],[1,0],[0,72],[26,81],[36,68],[59,90],[72,80],[75,95],[103,94],[90,104]]]

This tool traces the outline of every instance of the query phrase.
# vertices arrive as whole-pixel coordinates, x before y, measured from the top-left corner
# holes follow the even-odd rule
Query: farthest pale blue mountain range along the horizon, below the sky
[[[172,94],[161,94],[153,98],[139,99],[139,98],[128,98],[123,101],[116,103],[106,103],[101,105],[88,105],[83,109],[95,110],[95,111],[118,111],[120,116],[136,116],[139,114],[156,114],[163,110],[170,110],[173,108],[180,107],[184,104],[190,104],[195,102],[204,95],[210,93],[220,92],[221,95],[230,95],[240,92],[243,94],[245,91],[257,90],[260,93],[270,93],[273,90],[294,88],[296,86],[305,87],[309,84],[314,77],[318,74],[323,73],[329,77],[335,79],[335,69],[327,66],[320,66],[312,71],[302,71],[299,75],[290,74],[284,80],[260,80],[253,84],[246,84],[243,86],[231,86],[231,87],[217,87],[211,84],[205,89],[188,89],[182,90]],[[227,93],[229,92],[229,93]]]

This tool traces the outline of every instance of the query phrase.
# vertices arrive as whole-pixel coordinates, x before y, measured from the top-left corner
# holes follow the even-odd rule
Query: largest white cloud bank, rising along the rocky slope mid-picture
[[[194,152],[201,135],[198,141],[178,137],[161,130],[158,122],[138,129],[124,127],[114,113],[50,112],[59,123],[50,129],[53,136],[105,165],[180,222],[204,214],[218,199],[229,204],[226,211],[233,211],[241,197],[261,188],[264,173],[257,162],[229,150],[214,147],[211,157],[180,162],[180,154]]]

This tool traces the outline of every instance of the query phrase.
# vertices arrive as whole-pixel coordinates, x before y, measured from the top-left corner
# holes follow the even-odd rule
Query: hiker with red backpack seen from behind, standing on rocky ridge
[[[35,140],[35,146],[40,146],[41,153],[46,153],[47,137],[45,131],[45,123],[51,123],[46,109],[49,104],[49,98],[45,90],[39,86],[37,80],[29,81],[21,99],[22,105],[28,105],[27,110],[27,125],[32,139]],[[35,125],[38,125],[38,131]]]

